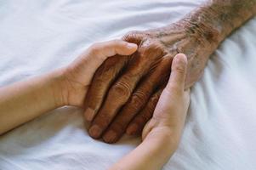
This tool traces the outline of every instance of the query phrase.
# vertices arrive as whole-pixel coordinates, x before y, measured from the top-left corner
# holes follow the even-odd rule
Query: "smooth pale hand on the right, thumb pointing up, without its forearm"
[[[162,91],[153,117],[143,129],[142,139],[170,135],[171,139],[179,140],[190,104],[190,89],[184,90],[186,62],[184,54],[175,56],[168,85]]]

